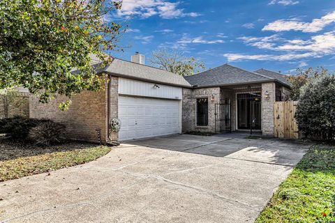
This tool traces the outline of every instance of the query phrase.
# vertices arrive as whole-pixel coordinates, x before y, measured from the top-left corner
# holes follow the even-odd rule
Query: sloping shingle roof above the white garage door
[[[184,77],[175,75],[173,72],[121,59],[114,59],[112,63],[101,70],[101,72],[109,72],[119,77],[139,79],[147,82],[191,87]]]

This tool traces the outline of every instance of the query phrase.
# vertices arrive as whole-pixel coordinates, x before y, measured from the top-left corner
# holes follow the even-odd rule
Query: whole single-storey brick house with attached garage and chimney
[[[249,72],[230,65],[181,77],[132,61],[114,59],[103,90],[84,91],[60,112],[60,96],[47,105],[30,98],[31,118],[64,123],[70,139],[126,141],[190,131],[262,131],[274,135],[274,102],[290,89],[285,75],[270,70]],[[119,132],[110,123],[121,120]]]

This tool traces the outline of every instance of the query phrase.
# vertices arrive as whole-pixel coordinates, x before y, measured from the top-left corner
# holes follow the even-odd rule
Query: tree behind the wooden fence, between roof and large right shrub
[[[307,84],[311,79],[318,78],[321,75],[327,74],[325,68],[308,68],[306,70],[297,69],[297,75],[290,75],[288,77],[291,83],[291,91],[288,94],[288,100],[299,100],[301,88]]]

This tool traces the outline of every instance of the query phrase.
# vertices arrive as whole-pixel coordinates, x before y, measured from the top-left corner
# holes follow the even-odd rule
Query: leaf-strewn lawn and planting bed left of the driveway
[[[90,162],[107,154],[110,149],[74,141],[46,148],[31,147],[0,139],[0,181]]]

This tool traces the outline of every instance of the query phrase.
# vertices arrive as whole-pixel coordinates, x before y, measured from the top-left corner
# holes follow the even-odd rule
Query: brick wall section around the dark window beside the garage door
[[[214,101],[211,96],[214,95]],[[208,125],[196,126],[195,107],[197,98],[208,98]],[[182,132],[215,132],[215,104],[220,102],[220,88],[183,89]]]

